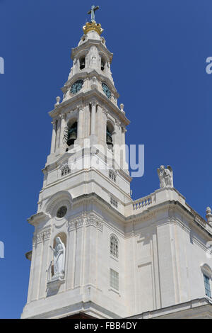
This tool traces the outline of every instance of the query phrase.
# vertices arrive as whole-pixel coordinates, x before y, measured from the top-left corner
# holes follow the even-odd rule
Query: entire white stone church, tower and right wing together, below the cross
[[[158,169],[160,188],[131,198],[125,145],[102,28],[72,49],[57,98],[22,318],[210,318],[212,215],[206,220]],[[167,172],[167,174],[163,174]]]

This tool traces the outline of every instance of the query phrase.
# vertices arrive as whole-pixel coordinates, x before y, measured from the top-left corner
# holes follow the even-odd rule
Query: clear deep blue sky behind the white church
[[[71,68],[71,47],[87,11],[114,53],[119,103],[131,120],[126,143],[145,145],[145,174],[133,197],[159,187],[156,169],[170,164],[174,185],[205,216],[212,205],[211,0],[0,0],[1,223],[0,317],[18,318],[27,298],[33,227],[52,124],[48,111]]]

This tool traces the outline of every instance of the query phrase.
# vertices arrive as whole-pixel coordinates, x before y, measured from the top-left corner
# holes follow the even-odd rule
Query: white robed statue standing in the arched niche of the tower
[[[64,277],[65,272],[65,256],[66,256],[66,248],[64,243],[61,241],[60,237],[56,237],[55,239],[56,245],[55,248],[51,249],[54,252],[54,276],[53,278],[57,277]]]

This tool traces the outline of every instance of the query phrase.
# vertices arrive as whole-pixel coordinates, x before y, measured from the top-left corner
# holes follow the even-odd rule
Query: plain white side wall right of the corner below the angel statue
[[[210,237],[200,227],[184,219],[184,227],[175,224],[179,301],[183,302],[205,296],[204,277],[201,265],[212,269],[212,259],[207,254]],[[212,284],[211,284],[212,290]]]

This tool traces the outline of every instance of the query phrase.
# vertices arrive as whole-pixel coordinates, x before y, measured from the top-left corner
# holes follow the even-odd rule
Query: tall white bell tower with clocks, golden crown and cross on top
[[[110,286],[110,266],[121,272],[124,261],[111,259],[107,248],[117,232],[124,242],[124,224],[120,226],[131,202],[125,147],[129,120],[124,105],[117,105],[113,55],[95,22],[97,9],[88,12],[91,21],[71,51],[63,98],[57,97],[49,112],[51,149],[42,169],[37,213],[28,219],[35,232],[33,250],[26,254],[31,266],[23,318],[126,313],[124,293]]]

